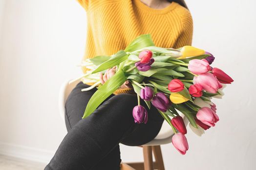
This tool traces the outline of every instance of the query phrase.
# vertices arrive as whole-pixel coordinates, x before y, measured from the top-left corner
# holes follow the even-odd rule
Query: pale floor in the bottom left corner
[[[42,163],[0,155],[0,170],[43,170]]]

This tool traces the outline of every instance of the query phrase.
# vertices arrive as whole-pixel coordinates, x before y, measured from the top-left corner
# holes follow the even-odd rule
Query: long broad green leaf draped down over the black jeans
[[[90,98],[85,108],[83,119],[92,114],[95,109],[126,81],[125,73],[120,70],[110,77]]]

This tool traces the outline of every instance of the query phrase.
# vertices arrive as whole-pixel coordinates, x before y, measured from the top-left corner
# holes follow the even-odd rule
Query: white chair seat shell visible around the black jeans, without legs
[[[64,120],[64,114],[65,114],[66,99],[70,94],[70,92],[72,91],[72,89],[80,82],[80,80],[77,80],[71,84],[68,84],[68,82],[69,81],[63,83],[59,93],[59,110],[63,120]],[[189,122],[188,119],[181,112],[178,111],[178,113],[181,117],[183,117],[185,125],[187,125]],[[174,133],[171,129],[171,126],[168,124],[167,121],[164,121],[158,135],[152,141],[144,144],[143,146],[155,146],[155,145],[163,145],[163,144],[171,143],[171,137],[173,135]]]

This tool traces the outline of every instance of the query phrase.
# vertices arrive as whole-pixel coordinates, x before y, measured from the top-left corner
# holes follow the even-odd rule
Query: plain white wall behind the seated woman
[[[193,46],[213,52],[213,66],[235,82],[223,100],[215,100],[217,125],[202,137],[189,130],[186,155],[171,144],[162,146],[166,169],[253,170],[256,1],[187,4]],[[75,65],[84,53],[85,11],[75,0],[6,0],[0,31],[0,153],[47,162],[66,133],[58,115],[58,90],[65,79],[81,73]],[[121,146],[123,161],[142,160],[141,151]]]

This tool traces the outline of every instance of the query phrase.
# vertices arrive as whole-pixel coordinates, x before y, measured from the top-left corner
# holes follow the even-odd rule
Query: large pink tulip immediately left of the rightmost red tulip
[[[193,84],[199,84],[203,87],[203,90],[208,91],[209,93],[216,93],[219,85],[217,79],[212,73],[199,74],[194,76]]]

